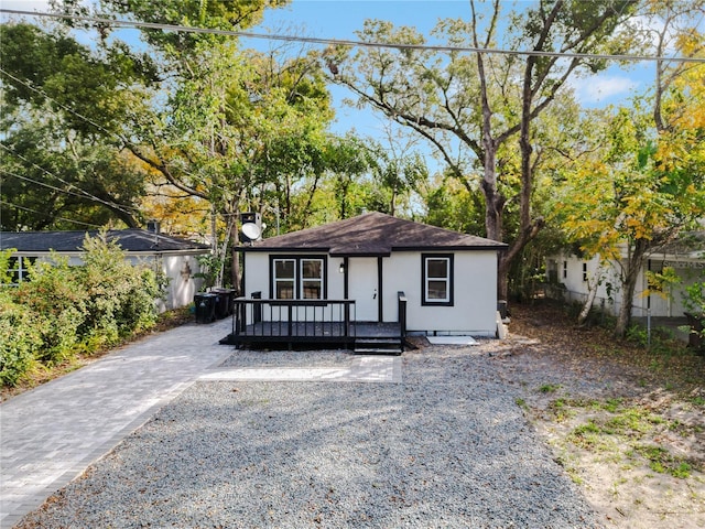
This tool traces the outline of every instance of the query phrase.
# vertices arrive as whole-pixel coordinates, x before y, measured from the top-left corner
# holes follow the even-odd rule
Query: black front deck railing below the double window
[[[355,336],[354,300],[262,300],[237,298],[232,335],[348,339]]]

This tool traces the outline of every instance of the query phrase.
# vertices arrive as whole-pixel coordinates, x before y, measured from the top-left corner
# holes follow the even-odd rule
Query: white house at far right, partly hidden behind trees
[[[633,316],[643,317],[649,313],[657,317],[683,316],[685,307],[682,290],[705,279],[705,233],[691,234],[691,239],[687,245],[673,242],[649,255],[639,272],[634,296],[630,300]],[[622,259],[625,258],[622,252]],[[681,285],[674,288],[673,292],[665,293],[671,295],[650,291],[647,272],[661,272],[666,267],[672,268],[681,278]],[[586,259],[570,252],[546,259],[549,282],[563,285],[560,292],[566,301],[583,303],[587,299],[589,285],[595,282],[597,274],[601,274],[594,305],[604,307],[610,314],[617,314],[623,302],[618,270],[617,261],[600,269],[599,258]]]

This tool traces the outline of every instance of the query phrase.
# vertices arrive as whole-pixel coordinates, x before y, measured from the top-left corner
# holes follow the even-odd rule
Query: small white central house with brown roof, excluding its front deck
[[[354,300],[356,322],[414,334],[495,336],[497,256],[506,245],[367,213],[242,247],[242,292],[269,300]]]

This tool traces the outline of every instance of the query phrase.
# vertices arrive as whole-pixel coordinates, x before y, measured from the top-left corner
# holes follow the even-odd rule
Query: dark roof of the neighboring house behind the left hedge
[[[24,253],[82,252],[86,235],[95,237],[91,231],[0,231],[0,249],[14,248]],[[107,231],[108,240],[116,240],[128,252],[164,252],[208,250],[209,247],[177,237],[154,234],[144,229],[113,229]]]

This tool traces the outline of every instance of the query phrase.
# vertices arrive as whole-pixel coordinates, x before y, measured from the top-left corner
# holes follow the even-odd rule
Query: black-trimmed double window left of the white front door
[[[324,259],[286,257],[272,259],[273,298],[275,300],[324,299]]]

